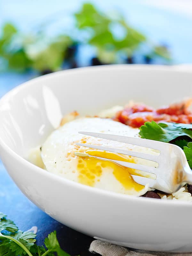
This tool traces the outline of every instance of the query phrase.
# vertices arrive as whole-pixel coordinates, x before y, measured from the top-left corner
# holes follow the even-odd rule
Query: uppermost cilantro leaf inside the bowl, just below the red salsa
[[[170,142],[180,136],[192,139],[192,124],[146,122],[140,127],[140,136],[144,139]]]

